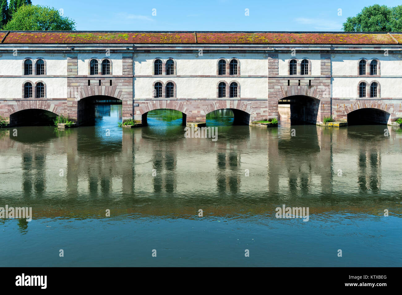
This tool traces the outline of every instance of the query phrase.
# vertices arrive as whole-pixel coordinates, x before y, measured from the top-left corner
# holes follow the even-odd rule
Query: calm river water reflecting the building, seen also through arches
[[[232,126],[223,111],[213,141],[185,138],[172,111],[132,129],[121,106],[96,116],[0,129],[0,207],[33,215],[0,219],[0,266],[402,265],[400,129]],[[283,205],[308,221],[276,218]]]

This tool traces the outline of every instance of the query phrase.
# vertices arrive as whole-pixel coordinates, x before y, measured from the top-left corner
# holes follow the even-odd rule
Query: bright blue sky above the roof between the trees
[[[62,8],[79,31],[342,31],[365,6],[400,1],[32,0]],[[152,9],[156,16],[152,16]],[[245,16],[245,9],[249,16]],[[338,16],[338,9],[342,16]]]

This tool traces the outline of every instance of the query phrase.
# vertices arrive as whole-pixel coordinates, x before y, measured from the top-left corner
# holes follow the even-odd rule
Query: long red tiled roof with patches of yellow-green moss
[[[6,32],[0,32],[3,39]],[[392,34],[402,43],[402,34]],[[8,33],[3,44],[398,44],[388,33],[58,32]]]

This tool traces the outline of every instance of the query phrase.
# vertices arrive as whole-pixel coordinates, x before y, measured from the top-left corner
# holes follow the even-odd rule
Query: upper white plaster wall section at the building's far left
[[[67,59],[62,55],[38,55],[38,54],[23,54],[18,56],[3,55],[0,58],[0,75],[23,75],[23,60],[30,57],[35,60],[38,58],[46,61],[46,75],[67,75]],[[31,75],[32,77],[34,75]]]

